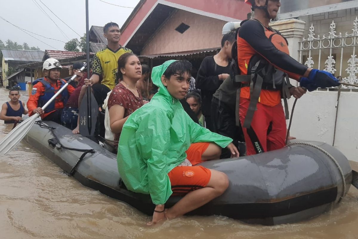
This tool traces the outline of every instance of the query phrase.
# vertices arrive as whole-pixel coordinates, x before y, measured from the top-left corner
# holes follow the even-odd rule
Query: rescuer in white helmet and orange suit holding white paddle
[[[42,70],[45,77],[33,82],[31,95],[27,101],[30,116],[38,113],[41,115],[42,120],[61,124],[62,109],[69,95],[74,91],[73,86],[68,85],[44,111],[41,108],[66,84],[66,81],[60,78],[61,69],[61,63],[54,58],[48,58],[44,61]]]

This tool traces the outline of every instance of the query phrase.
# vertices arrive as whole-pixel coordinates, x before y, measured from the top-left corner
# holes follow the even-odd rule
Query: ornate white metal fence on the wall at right
[[[358,84],[358,58],[355,48],[358,46],[358,18],[353,22],[352,32],[337,33],[334,21],[330,24],[329,32],[315,36],[313,24],[308,37],[300,42],[300,62],[311,68],[328,71],[333,75],[342,76],[344,82]],[[343,86],[350,91],[357,87]],[[333,90],[333,89],[330,89]]]

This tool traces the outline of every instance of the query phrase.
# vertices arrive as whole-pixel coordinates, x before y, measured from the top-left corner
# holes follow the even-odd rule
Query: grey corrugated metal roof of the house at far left
[[[43,51],[1,49],[5,61],[42,61]]]

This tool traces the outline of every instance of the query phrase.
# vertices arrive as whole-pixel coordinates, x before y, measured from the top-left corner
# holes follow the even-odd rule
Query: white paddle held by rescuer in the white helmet
[[[87,64],[84,64],[84,66],[80,69],[80,71],[83,71],[84,68],[86,68]],[[76,78],[77,75],[74,74],[71,79],[69,79],[67,81],[67,83],[59,90],[57,91],[57,93],[51,97],[51,99],[49,101],[47,101],[47,103],[42,106],[42,110],[45,110],[47,108],[47,106],[49,106],[49,104],[51,104],[52,101],[54,101],[56,99],[56,97],[62,93],[62,91],[64,91],[64,89],[67,88],[68,83],[70,83],[71,81],[74,80],[74,78]],[[1,140],[0,142],[0,156],[4,156],[7,153],[10,152],[10,150],[12,148],[15,147],[16,144],[18,144],[21,139],[23,139],[25,137],[25,135],[29,132],[29,130],[31,129],[32,125],[35,123],[37,117],[39,116],[38,113],[30,116],[29,118],[27,118],[26,120],[24,120],[21,124],[19,124],[18,126],[16,126],[16,128],[14,128],[13,130],[10,131],[10,133],[8,133],[5,138],[3,140]]]

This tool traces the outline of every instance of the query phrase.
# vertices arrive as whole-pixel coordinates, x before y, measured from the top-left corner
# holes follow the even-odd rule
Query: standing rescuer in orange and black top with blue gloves
[[[238,113],[247,155],[251,155],[285,146],[286,120],[281,99],[291,95],[300,98],[306,89],[313,91],[339,83],[332,74],[309,68],[289,56],[287,40],[269,27],[270,20],[277,16],[280,0],[245,0],[245,3],[251,5],[254,19],[242,21],[238,29],[240,76],[234,76],[234,81],[240,84]],[[300,81],[301,87],[291,86],[288,77]]]

